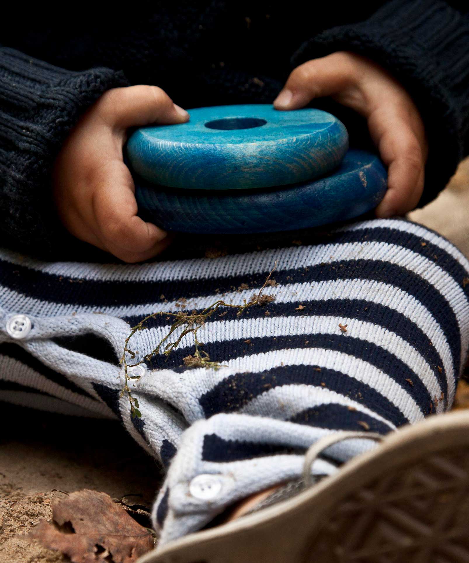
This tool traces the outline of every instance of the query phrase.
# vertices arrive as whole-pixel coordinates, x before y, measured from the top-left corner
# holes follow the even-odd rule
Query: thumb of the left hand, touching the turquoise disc
[[[111,127],[137,127],[150,123],[183,123],[189,114],[158,86],[113,88],[99,101],[99,115]]]

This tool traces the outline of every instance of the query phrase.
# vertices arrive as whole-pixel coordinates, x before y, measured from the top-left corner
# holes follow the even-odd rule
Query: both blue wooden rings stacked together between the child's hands
[[[271,105],[189,110],[127,142],[139,215],[168,231],[261,233],[370,211],[386,192],[376,155],[347,150],[346,128],[317,109]]]

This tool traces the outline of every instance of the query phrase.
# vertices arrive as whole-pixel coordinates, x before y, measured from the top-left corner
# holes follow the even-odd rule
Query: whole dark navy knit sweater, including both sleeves
[[[412,95],[430,145],[421,204],[430,201],[469,153],[465,5],[173,1],[60,22],[12,14],[0,37],[0,244],[44,257],[84,244],[57,219],[51,171],[79,116],[109,88],[156,84],[184,108],[270,103],[295,66],[340,50],[377,61]],[[352,142],[366,141],[351,111],[313,105],[340,117]]]

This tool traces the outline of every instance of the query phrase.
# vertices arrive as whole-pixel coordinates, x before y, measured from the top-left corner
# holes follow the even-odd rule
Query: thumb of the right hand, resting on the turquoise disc
[[[333,96],[350,86],[355,66],[345,53],[333,53],[297,66],[276,97],[275,109],[298,109],[314,98]]]

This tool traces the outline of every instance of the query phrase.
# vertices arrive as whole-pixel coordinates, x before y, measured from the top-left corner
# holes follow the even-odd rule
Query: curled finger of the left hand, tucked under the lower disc
[[[132,176],[122,161],[110,161],[100,169],[93,190],[92,208],[101,243],[116,256],[120,252],[142,254],[166,237],[159,227],[137,216]]]

